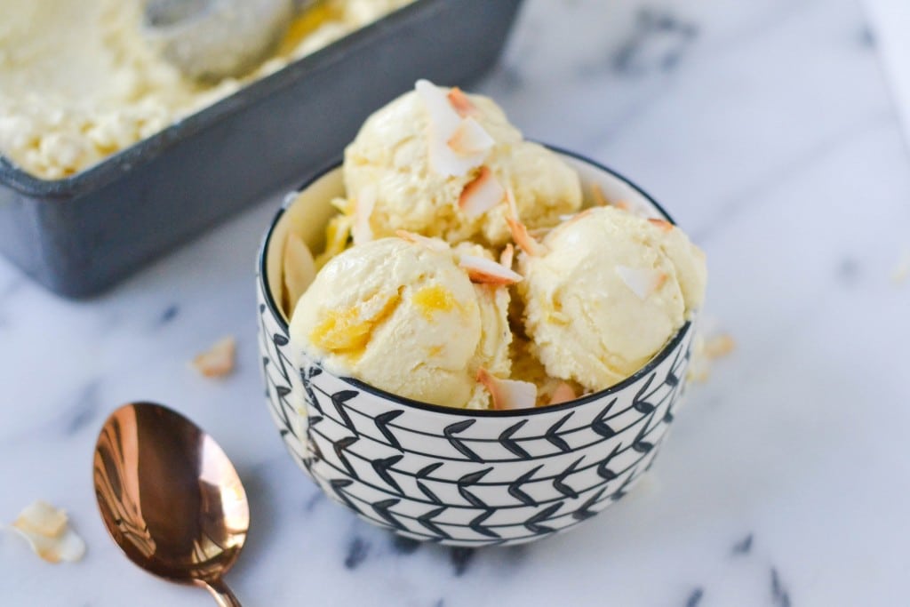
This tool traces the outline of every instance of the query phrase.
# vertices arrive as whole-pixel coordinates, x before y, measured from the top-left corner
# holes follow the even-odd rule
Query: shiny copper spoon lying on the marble
[[[214,439],[167,407],[129,403],[98,435],[94,477],[101,518],[131,561],[240,607],[221,577],[247,539],[247,493]]]

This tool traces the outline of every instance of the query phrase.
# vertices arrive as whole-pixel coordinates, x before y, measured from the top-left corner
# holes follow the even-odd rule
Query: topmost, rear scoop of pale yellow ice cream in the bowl
[[[490,98],[422,83],[420,93],[399,96],[369,116],[345,150],[348,196],[357,200],[366,189],[370,198],[375,196],[369,212],[373,235],[389,236],[406,229],[452,243],[480,238],[491,245],[504,244],[509,239],[504,203],[482,211],[465,208],[468,194],[476,186],[490,186],[487,177],[495,180],[490,186],[493,190],[511,187],[521,219],[529,228],[555,226],[561,215],[581,207],[581,185],[575,171],[545,147],[524,141]],[[446,137],[440,135],[443,126],[438,114],[451,114],[452,109],[428,103],[428,93],[439,98],[440,104],[449,103],[446,95],[451,97],[451,90],[455,90],[463,116],[452,119],[468,121],[472,127],[461,134],[467,141],[462,147],[477,152],[474,166],[455,175],[432,161],[433,146],[446,145],[437,140]],[[456,154],[457,161],[463,161],[465,154]],[[485,194],[497,197],[490,190]]]

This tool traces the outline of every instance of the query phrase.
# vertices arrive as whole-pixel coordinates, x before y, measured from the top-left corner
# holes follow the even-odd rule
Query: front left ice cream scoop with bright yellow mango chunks
[[[480,291],[439,244],[380,238],[330,259],[294,310],[295,351],[403,397],[487,408],[477,370],[508,372],[511,334],[497,324],[508,292],[500,301]]]

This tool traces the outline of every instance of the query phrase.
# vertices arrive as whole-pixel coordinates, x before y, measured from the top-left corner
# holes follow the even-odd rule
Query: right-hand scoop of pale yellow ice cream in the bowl
[[[704,255],[678,228],[598,207],[521,254],[531,350],[553,378],[605,389],[651,359],[701,306]]]

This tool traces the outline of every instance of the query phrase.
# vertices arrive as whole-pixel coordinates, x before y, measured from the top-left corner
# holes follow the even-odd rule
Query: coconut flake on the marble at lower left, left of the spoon
[[[86,542],[69,528],[66,512],[44,501],[26,506],[11,529],[48,562],[78,561],[86,553]]]

